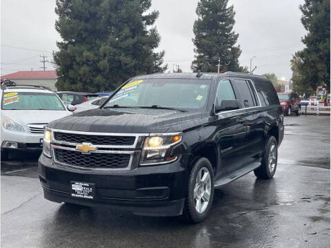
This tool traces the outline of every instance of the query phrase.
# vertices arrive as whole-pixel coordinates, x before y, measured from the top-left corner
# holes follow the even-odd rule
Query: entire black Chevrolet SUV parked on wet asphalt
[[[205,220],[217,187],[250,171],[272,178],[284,131],[271,82],[230,72],[134,77],[46,129],[46,199],[190,222]]]

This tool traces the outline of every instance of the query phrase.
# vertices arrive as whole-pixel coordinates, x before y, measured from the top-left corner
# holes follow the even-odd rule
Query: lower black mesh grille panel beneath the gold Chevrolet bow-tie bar
[[[130,154],[90,153],[54,149],[57,162],[86,169],[123,169],[128,167]]]

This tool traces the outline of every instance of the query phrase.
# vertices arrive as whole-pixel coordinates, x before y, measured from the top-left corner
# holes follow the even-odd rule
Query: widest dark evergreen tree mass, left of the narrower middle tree
[[[112,90],[132,76],[163,72],[151,0],[57,0],[54,53],[59,90]]]

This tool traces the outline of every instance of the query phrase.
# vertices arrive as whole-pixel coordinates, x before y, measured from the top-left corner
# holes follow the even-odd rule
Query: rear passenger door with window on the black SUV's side
[[[243,165],[252,162],[264,150],[265,120],[261,103],[250,80],[231,80],[234,90],[239,95],[241,107],[244,109],[246,137],[243,145],[245,158]]]

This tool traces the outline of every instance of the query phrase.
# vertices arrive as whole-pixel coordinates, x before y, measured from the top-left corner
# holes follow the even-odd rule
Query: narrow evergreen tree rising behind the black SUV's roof
[[[196,12],[192,70],[215,73],[220,59],[221,72],[248,72],[247,67],[239,66],[241,49],[236,46],[238,34],[233,30],[235,12],[233,6],[228,7],[228,0],[200,0]]]

